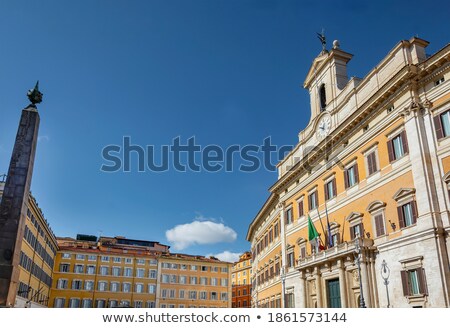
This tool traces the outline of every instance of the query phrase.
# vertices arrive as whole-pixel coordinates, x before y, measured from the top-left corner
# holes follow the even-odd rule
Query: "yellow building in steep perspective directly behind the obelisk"
[[[0,182],[0,201],[4,183]],[[19,286],[14,307],[48,307],[58,245],[33,195],[28,197],[24,237],[20,249]]]

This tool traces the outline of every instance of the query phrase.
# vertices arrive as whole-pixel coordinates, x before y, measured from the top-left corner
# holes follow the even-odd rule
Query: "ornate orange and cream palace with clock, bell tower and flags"
[[[311,120],[247,234],[257,306],[449,306],[450,46],[427,45],[363,79],[337,41],[313,61]]]

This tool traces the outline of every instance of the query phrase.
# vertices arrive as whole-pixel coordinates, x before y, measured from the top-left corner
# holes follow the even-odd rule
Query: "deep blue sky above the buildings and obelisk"
[[[448,1],[0,1],[0,173],[26,91],[44,101],[32,191],[58,236],[156,240],[191,254],[242,253],[277,174],[103,173],[130,136],[202,146],[294,145],[309,121],[302,83],[339,39],[363,77],[402,39],[449,42]],[[431,12],[428,12],[431,10]],[[169,237],[170,241],[167,239]],[[230,255],[230,254],[228,254]],[[231,258],[231,257],[224,257]]]

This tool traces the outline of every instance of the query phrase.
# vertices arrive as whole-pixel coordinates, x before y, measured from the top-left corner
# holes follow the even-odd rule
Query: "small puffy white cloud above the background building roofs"
[[[236,237],[237,233],[233,229],[213,221],[194,221],[166,231],[166,238],[173,243],[175,250],[182,250],[195,244],[231,243]]]

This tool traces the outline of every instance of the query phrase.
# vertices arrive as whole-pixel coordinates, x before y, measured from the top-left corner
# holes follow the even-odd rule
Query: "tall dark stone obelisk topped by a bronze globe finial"
[[[36,104],[42,101],[39,81],[28,91],[30,105],[22,110],[0,204],[0,307],[13,307],[19,284],[21,244],[27,215],[39,130]]]

